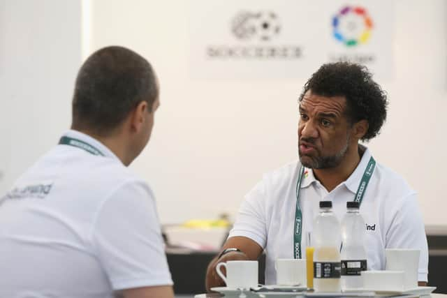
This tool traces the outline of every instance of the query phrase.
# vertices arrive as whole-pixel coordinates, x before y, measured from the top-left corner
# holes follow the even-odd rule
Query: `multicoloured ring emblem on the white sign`
[[[367,43],[372,31],[372,20],[365,8],[345,6],[332,19],[333,35],[348,47]]]

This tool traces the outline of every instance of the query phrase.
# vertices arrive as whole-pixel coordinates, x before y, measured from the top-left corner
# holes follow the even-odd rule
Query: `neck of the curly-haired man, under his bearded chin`
[[[342,163],[337,165],[337,167],[313,169],[316,179],[330,193],[339,184],[346,181],[354,170],[356,170],[358,163],[360,163],[360,154],[362,155],[362,152],[360,152],[357,144],[346,153]]]

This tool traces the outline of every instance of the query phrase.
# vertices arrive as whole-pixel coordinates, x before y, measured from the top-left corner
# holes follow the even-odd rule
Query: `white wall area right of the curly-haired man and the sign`
[[[397,1],[396,79],[388,122],[372,144],[418,191],[426,224],[447,224],[447,2]]]

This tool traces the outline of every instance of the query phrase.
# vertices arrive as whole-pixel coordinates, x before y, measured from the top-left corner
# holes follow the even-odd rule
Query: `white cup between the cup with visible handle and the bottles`
[[[305,259],[277,259],[274,268],[278,285],[307,285]]]

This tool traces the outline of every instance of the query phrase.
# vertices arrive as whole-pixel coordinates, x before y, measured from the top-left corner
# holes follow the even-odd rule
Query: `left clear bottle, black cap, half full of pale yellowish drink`
[[[321,201],[314,220],[314,290],[340,292],[340,224],[332,213],[332,202]]]

